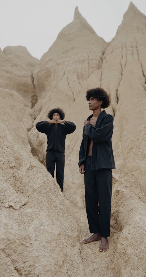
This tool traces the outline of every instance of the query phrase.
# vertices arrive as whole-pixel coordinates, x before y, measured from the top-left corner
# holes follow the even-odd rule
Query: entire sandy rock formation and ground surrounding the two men
[[[0,51],[3,276],[145,276],[140,243],[145,231],[145,23],[131,3],[107,44],[76,8],[74,20],[40,61],[20,46]],[[116,170],[110,248],[104,254],[98,242],[82,243],[89,231],[77,165],[83,122],[90,115],[85,94],[95,86],[110,94],[107,112],[114,115]],[[44,166],[46,136],[35,128],[56,106],[77,125],[66,139],[63,194]]]

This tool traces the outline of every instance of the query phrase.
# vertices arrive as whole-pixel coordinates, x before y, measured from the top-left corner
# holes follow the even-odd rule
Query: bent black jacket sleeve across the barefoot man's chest
[[[107,141],[113,132],[113,116],[109,115],[105,118],[100,128],[93,127],[90,123],[85,126],[85,134],[94,142],[102,143]]]

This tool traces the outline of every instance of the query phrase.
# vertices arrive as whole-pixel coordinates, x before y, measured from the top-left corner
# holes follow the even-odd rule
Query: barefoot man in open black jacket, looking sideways
[[[101,109],[110,104],[102,88],[86,93],[93,114],[84,121],[83,140],[79,151],[79,172],[84,174],[86,213],[92,236],[83,243],[101,240],[100,252],[109,248],[112,196],[112,169],[115,168],[112,150],[113,117]]]

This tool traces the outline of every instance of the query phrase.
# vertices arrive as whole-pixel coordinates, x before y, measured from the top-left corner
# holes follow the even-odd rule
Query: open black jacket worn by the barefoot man
[[[90,119],[93,115],[90,115]],[[79,167],[86,160],[90,139],[93,140],[91,170],[115,168],[112,151],[113,117],[103,110],[95,127],[87,123],[83,130],[83,140],[79,151]]]

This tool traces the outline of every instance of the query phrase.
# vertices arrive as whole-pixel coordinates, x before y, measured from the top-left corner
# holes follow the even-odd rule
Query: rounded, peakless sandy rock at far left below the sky
[[[34,106],[37,102],[33,72],[38,59],[23,46],[0,49],[0,87],[15,90]]]

